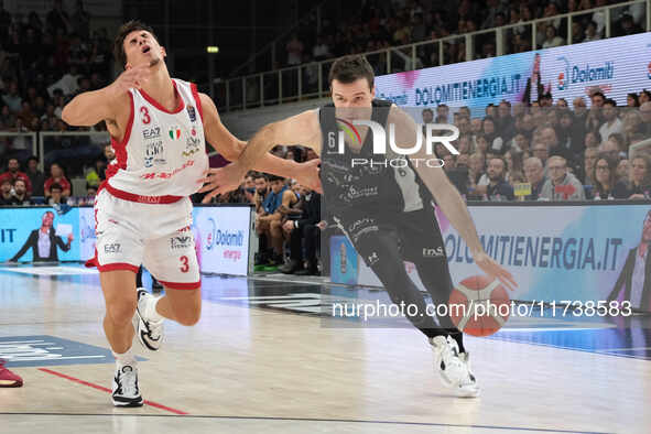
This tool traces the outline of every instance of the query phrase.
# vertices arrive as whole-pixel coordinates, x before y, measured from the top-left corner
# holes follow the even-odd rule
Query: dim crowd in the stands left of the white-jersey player
[[[0,2],[0,131],[106,131],[72,128],[62,119],[65,104],[86,90],[98,89],[111,77],[111,42],[105,29],[90,31],[90,15],[78,1],[66,11],[52,2],[44,19],[36,12],[11,15]],[[106,139],[48,137],[45,165],[65,165],[68,175],[83,174],[101,156]],[[29,137],[0,137],[0,160],[21,164],[33,154]],[[64,188],[65,193],[65,188]]]

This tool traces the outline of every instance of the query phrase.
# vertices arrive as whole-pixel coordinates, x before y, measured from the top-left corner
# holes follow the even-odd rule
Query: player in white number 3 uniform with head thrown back
[[[116,159],[95,203],[97,249],[89,265],[100,272],[104,329],[117,361],[113,404],[140,406],[132,319],[138,321],[139,340],[150,350],[161,346],[164,318],[186,326],[199,319],[200,280],[188,196],[199,189],[208,169],[206,141],[231,161],[246,143],[221,124],[208,96],[194,84],[170,77],[165,50],[151,28],[123,24],[115,55],[126,70],[111,85],[75,97],[64,108],[63,120],[86,127],[104,120],[111,135]],[[256,169],[291,174],[314,187],[316,163],[269,154]],[[165,286],[163,297],[137,292],[140,264]]]

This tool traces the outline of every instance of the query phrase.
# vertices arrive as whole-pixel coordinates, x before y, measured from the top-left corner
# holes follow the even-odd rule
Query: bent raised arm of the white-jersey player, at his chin
[[[62,119],[75,127],[91,127],[102,120],[115,123],[116,107],[128,101],[127,91],[132,87],[140,88],[149,74],[149,65],[133,67],[105,88],[77,95],[63,108]]]

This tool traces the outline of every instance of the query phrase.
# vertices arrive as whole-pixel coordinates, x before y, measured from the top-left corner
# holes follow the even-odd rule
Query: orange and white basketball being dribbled
[[[489,336],[509,318],[510,299],[499,280],[473,275],[449,296],[449,316],[457,328],[473,336]]]

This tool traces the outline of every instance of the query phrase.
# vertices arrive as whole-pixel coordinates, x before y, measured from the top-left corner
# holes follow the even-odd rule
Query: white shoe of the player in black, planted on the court
[[[436,336],[430,339],[434,352],[434,370],[443,384],[462,398],[479,395],[477,379],[470,371],[469,356],[459,354],[459,347],[451,336]]]

